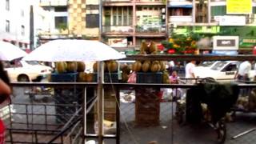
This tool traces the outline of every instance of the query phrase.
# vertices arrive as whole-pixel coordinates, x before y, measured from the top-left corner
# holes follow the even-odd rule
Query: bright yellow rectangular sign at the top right
[[[226,0],[226,14],[252,14],[252,0]]]

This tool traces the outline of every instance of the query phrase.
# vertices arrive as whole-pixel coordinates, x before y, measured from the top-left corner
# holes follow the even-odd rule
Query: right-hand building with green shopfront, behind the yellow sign
[[[236,35],[240,48],[256,46],[255,0],[170,0],[167,7],[169,34]]]

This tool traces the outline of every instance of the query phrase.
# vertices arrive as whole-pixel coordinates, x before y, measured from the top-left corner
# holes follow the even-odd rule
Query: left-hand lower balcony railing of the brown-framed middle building
[[[102,26],[103,33],[133,33],[132,26]]]

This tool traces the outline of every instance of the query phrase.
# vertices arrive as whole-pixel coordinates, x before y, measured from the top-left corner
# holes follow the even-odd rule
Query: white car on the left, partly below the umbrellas
[[[41,81],[52,72],[50,66],[40,65],[38,62],[4,62],[5,70],[10,78],[10,82],[32,82]]]

